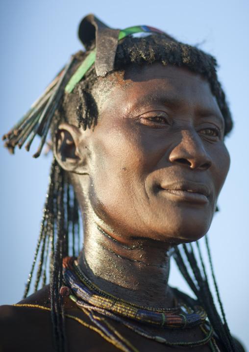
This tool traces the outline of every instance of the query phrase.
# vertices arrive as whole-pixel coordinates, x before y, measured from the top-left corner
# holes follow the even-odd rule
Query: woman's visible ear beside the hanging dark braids
[[[58,127],[54,155],[62,169],[75,174],[88,174],[87,149],[81,128],[66,123]]]

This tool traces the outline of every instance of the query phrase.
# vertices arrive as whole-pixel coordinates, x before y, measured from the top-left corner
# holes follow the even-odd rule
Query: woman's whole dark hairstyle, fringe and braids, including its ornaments
[[[224,91],[217,78],[216,60],[211,55],[198,48],[180,43],[158,29],[148,26],[135,26],[125,30],[111,29],[93,15],[88,15],[82,20],[79,26],[79,38],[86,51],[79,51],[71,57],[69,63],[55,77],[44,94],[31,106],[23,119],[3,136],[3,139],[6,140],[5,147],[9,148],[9,151],[14,152],[16,145],[21,148],[28,137],[29,140],[25,148],[29,150],[35,135],[39,134],[42,137],[41,143],[33,155],[38,157],[50,128],[52,138],[55,138],[54,135],[60,122],[75,119],[78,125],[84,129],[96,124],[98,104],[94,100],[92,89],[98,82],[98,76],[125,70],[131,65],[143,67],[153,62],[185,67],[192,72],[203,75],[209,82],[211,92],[224,117],[225,135],[231,131],[231,115],[225,101]],[[40,281],[42,281],[42,286],[46,284],[47,271],[49,270],[51,317],[57,351],[64,351],[64,346],[66,346],[64,308],[59,294],[62,285],[62,258],[68,254],[76,255],[79,251],[79,245],[79,208],[74,189],[70,184],[67,172],[54,159],[38,245],[24,297],[29,291],[35,263],[40,255],[35,290],[37,290]],[[236,347],[225,320],[214,278],[207,238],[206,245],[222,319],[218,314],[209,288],[198,242],[197,253],[199,253],[201,268],[199,268],[191,244],[174,248],[173,256],[199,304],[205,308],[208,319],[225,349],[234,352]],[[188,267],[185,264],[186,259]],[[181,293],[178,292],[179,295]],[[184,299],[186,300],[185,296]]]

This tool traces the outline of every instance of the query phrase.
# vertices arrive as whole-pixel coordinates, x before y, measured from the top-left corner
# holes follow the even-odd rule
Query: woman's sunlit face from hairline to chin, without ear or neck
[[[229,169],[224,119],[209,84],[159,63],[104,79],[112,88],[87,145],[100,226],[129,238],[199,239]]]

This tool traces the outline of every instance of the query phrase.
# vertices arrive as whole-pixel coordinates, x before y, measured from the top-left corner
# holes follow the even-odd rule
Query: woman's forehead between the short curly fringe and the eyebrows
[[[194,105],[197,109],[216,110],[221,115],[208,81],[202,75],[174,65],[153,63],[142,69],[131,66],[101,78],[97,91],[102,109],[117,108],[117,105],[139,109],[158,102],[178,108]]]

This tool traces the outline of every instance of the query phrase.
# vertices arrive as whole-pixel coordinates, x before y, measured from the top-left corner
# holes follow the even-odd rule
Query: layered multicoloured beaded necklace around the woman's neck
[[[219,352],[213,338],[213,327],[206,321],[207,314],[200,306],[189,307],[184,302],[177,302],[176,299],[174,308],[163,309],[130,303],[101,290],[91,282],[81,271],[74,257],[63,259],[63,277],[66,286],[61,288],[60,294],[74,301],[91,322],[122,351],[138,352],[105,318],[119,322],[139,335],[167,346],[196,347],[209,344],[211,351]],[[204,337],[198,341],[172,342],[164,337],[152,335],[149,326],[164,329],[199,326]]]

